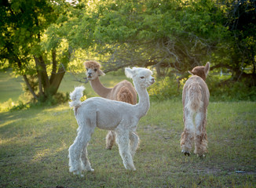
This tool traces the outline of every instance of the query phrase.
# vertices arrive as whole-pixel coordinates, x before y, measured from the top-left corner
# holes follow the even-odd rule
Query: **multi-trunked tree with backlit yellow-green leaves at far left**
[[[16,74],[22,75],[34,99],[55,95],[67,67],[69,52],[64,40],[54,45],[45,44],[51,37],[45,31],[68,4],[48,0],[1,3],[0,68],[11,67]]]

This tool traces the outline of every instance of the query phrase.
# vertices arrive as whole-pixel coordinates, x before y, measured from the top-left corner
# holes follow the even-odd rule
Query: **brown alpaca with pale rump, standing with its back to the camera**
[[[205,81],[209,70],[208,62],[205,67],[195,67],[191,72],[188,71],[192,77],[188,78],[182,92],[185,128],[181,134],[181,152],[188,156],[191,154],[192,141],[195,142],[195,154],[204,157],[207,153],[206,125],[210,92]]]

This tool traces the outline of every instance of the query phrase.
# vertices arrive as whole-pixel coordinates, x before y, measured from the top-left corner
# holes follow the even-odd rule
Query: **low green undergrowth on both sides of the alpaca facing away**
[[[229,81],[210,74],[207,85],[210,91],[210,101],[256,101],[256,87],[248,85],[247,81]],[[166,99],[181,99],[182,89],[187,78],[158,78],[148,89],[150,99],[162,101]],[[247,83],[247,84],[246,84]]]

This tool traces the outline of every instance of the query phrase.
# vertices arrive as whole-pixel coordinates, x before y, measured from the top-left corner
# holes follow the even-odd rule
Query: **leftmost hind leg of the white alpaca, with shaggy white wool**
[[[83,125],[84,126],[84,125]],[[82,157],[82,150],[90,141],[90,132],[92,128],[79,128],[78,136],[76,136],[74,143],[68,149],[69,157],[69,172],[73,172],[76,175],[81,175],[82,163],[80,158]]]

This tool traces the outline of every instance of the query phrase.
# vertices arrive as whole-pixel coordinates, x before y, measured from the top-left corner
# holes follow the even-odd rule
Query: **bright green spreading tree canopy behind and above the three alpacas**
[[[92,15],[98,21],[93,27],[93,38],[97,50],[109,56],[108,63],[104,63],[107,71],[128,65],[159,65],[185,72],[205,63],[209,50],[227,31],[223,26],[225,8],[213,1],[94,4]],[[88,9],[83,11],[87,15],[85,10]],[[91,23],[83,18],[79,16],[76,22]]]

